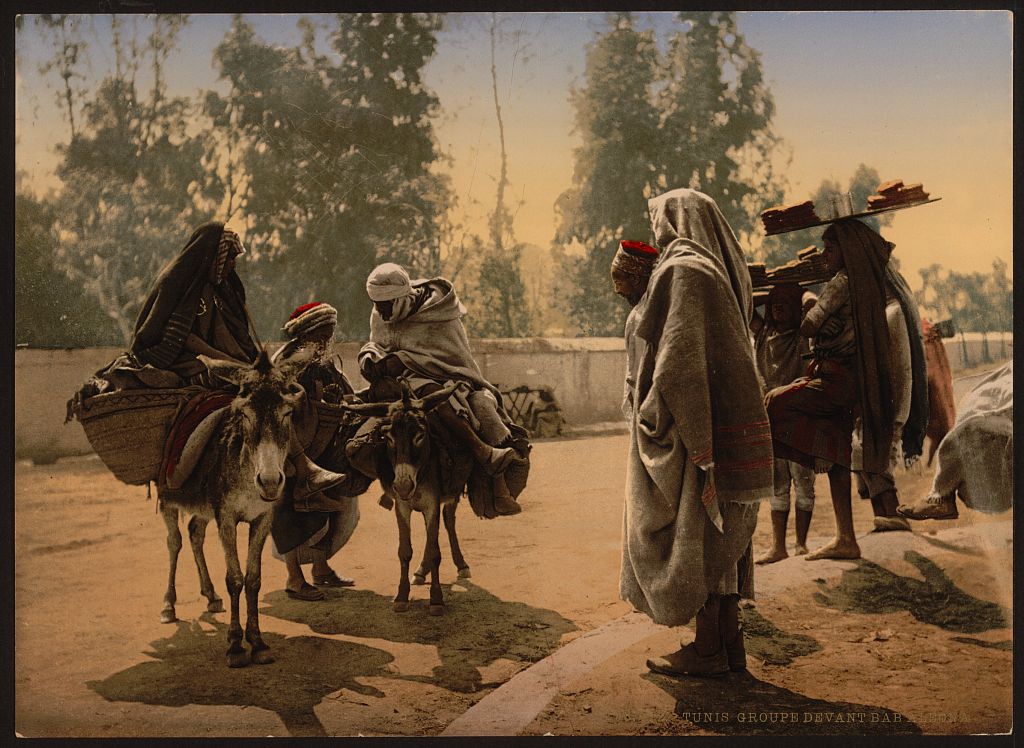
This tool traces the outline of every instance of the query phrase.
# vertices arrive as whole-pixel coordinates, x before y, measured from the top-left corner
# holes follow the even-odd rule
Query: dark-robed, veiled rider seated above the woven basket
[[[140,364],[209,386],[199,355],[240,364],[256,360],[246,291],[234,272],[243,252],[238,234],[223,223],[210,221],[193,232],[160,272],[135,322],[129,349]]]

